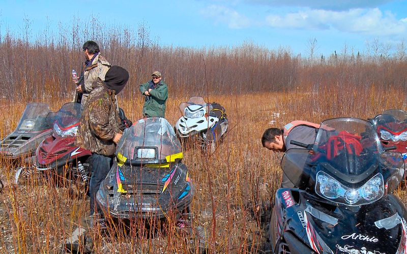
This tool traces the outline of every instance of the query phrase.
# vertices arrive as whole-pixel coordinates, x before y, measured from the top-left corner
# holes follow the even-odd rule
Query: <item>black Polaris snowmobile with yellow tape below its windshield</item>
[[[194,185],[182,163],[180,141],[167,120],[140,119],[126,129],[114,162],[96,199],[113,218],[181,216],[189,208]]]

